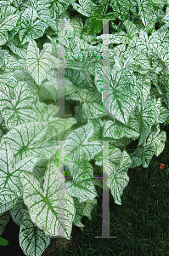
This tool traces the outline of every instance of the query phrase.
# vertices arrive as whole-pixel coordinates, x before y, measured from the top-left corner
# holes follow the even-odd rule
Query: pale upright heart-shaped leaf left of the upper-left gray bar
[[[39,53],[36,42],[30,41],[29,43],[26,56],[26,68],[38,85],[46,79],[50,68],[51,51],[51,44],[44,44],[41,53]]]

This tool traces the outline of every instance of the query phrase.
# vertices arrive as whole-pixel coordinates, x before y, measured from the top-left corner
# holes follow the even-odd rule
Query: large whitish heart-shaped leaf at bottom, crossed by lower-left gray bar
[[[59,236],[61,229],[69,239],[75,217],[73,199],[59,187],[59,168],[50,162],[45,173],[43,189],[31,173],[20,173],[24,187],[24,202],[29,208],[31,221],[50,236]],[[58,198],[58,193],[60,197]],[[61,204],[65,206],[60,208]],[[60,215],[60,211],[62,215]],[[51,221],[52,220],[52,221]]]

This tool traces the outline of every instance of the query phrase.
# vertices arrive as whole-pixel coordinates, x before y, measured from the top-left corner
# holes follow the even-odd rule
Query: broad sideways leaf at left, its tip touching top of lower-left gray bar
[[[27,156],[50,159],[58,151],[58,145],[51,142],[51,137],[48,134],[48,122],[31,122],[12,128],[3,136],[2,143],[6,141],[10,144],[17,160]]]

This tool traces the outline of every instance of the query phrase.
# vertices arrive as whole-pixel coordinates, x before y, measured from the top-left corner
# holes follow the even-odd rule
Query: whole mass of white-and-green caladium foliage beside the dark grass
[[[4,0],[0,11],[0,236],[12,217],[25,255],[40,256],[60,230],[70,239],[72,225],[83,229],[82,217],[91,218],[102,188],[94,177],[102,176],[103,141],[110,141],[107,186],[118,205],[128,168],[147,168],[165,148],[169,2]],[[110,19],[104,37],[99,19]],[[103,42],[110,61],[107,114]],[[65,116],[58,114],[58,44],[65,45]],[[71,177],[64,192],[61,141]]]

